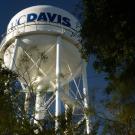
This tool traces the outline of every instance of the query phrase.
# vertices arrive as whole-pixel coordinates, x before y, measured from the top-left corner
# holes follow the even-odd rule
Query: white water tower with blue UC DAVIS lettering
[[[35,119],[43,119],[53,103],[57,118],[63,102],[65,108],[69,105],[81,110],[78,124],[85,119],[89,134],[89,116],[84,111],[88,109],[86,63],[79,51],[79,30],[79,21],[65,10],[47,5],[29,7],[9,22],[0,51],[5,65],[19,74],[26,98],[27,87],[32,86],[36,93]],[[54,94],[44,102],[44,93],[49,92]],[[59,128],[57,119],[55,127]]]

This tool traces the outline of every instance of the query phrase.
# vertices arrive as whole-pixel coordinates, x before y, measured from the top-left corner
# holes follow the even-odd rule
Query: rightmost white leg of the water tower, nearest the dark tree
[[[82,79],[83,79],[83,94],[84,94],[84,107],[86,109],[86,113],[84,114],[86,120],[86,133],[90,134],[92,130],[92,126],[90,123],[90,116],[87,113],[89,108],[89,95],[88,95],[88,82],[87,82],[87,73],[86,73],[86,62],[83,61],[83,71],[82,71]]]

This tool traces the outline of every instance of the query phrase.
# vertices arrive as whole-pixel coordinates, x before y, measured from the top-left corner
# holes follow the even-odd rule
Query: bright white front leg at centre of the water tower
[[[61,37],[57,37],[57,44],[56,44],[56,102],[55,102],[55,131],[58,132],[59,129],[59,120],[58,116],[61,114],[61,103],[60,103],[60,45],[61,45]]]

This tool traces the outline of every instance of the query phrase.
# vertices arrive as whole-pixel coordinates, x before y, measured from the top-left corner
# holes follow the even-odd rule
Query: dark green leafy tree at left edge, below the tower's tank
[[[17,115],[19,103],[18,92],[14,91],[13,82],[17,74],[2,66],[0,61],[0,134],[27,135],[34,134],[35,126],[31,126],[25,114]]]

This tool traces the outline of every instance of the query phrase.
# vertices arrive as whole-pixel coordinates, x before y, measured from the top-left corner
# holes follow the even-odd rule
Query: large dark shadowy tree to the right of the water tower
[[[94,67],[106,72],[110,109],[135,134],[135,8],[133,1],[83,0],[83,50],[94,54]],[[130,132],[132,131],[132,133]]]

